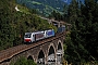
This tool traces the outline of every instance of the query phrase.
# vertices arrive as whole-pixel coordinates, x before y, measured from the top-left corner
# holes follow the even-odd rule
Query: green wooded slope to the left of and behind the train
[[[0,50],[23,44],[24,34],[45,29],[57,29],[41,20],[36,10],[16,11],[15,0],[0,0]],[[24,10],[27,8],[25,6]]]

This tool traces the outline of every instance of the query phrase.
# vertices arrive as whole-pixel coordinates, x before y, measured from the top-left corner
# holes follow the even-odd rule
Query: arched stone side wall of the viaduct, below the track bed
[[[21,56],[24,56],[26,58],[34,60],[34,62],[38,63],[41,58],[44,64],[47,65],[49,61],[49,55],[53,54],[54,62],[57,62],[57,53],[61,50],[61,54],[63,56],[63,37],[58,38],[56,40],[46,42],[44,44],[39,44],[37,47],[30,48],[28,50],[25,50],[19,54],[13,55],[11,58],[5,60],[0,65],[10,65],[10,63],[13,61],[15,62]],[[41,61],[40,60],[40,61]]]

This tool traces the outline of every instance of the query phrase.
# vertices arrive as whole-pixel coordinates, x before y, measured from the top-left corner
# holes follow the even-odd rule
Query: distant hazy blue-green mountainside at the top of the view
[[[62,13],[65,4],[62,0],[16,0],[17,3],[26,5],[29,9],[36,9],[40,14],[48,15],[52,11]]]

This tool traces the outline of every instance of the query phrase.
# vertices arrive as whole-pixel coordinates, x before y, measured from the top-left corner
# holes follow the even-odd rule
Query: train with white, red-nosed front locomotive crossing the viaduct
[[[57,32],[62,32],[65,30],[65,27],[59,27]],[[46,38],[54,37],[56,32],[53,29],[42,30],[42,31],[34,31],[34,32],[25,32],[24,42],[35,42],[38,40],[42,40]]]

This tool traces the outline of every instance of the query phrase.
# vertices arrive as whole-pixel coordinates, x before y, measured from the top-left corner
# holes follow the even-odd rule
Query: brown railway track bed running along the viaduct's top
[[[46,42],[52,41],[52,40],[54,40],[57,38],[60,38],[64,35],[65,35],[65,32],[61,32],[61,34],[57,34],[54,37],[44,39],[44,40],[37,41],[35,43],[21,44],[21,46],[16,46],[16,47],[13,47],[13,48],[10,48],[10,49],[7,49],[7,50],[2,50],[2,51],[0,51],[0,63],[8,60],[8,58],[13,57],[14,55],[16,55],[16,54],[19,54],[23,51],[26,51],[26,50],[32,49],[34,47],[37,47],[37,46],[44,44]]]

